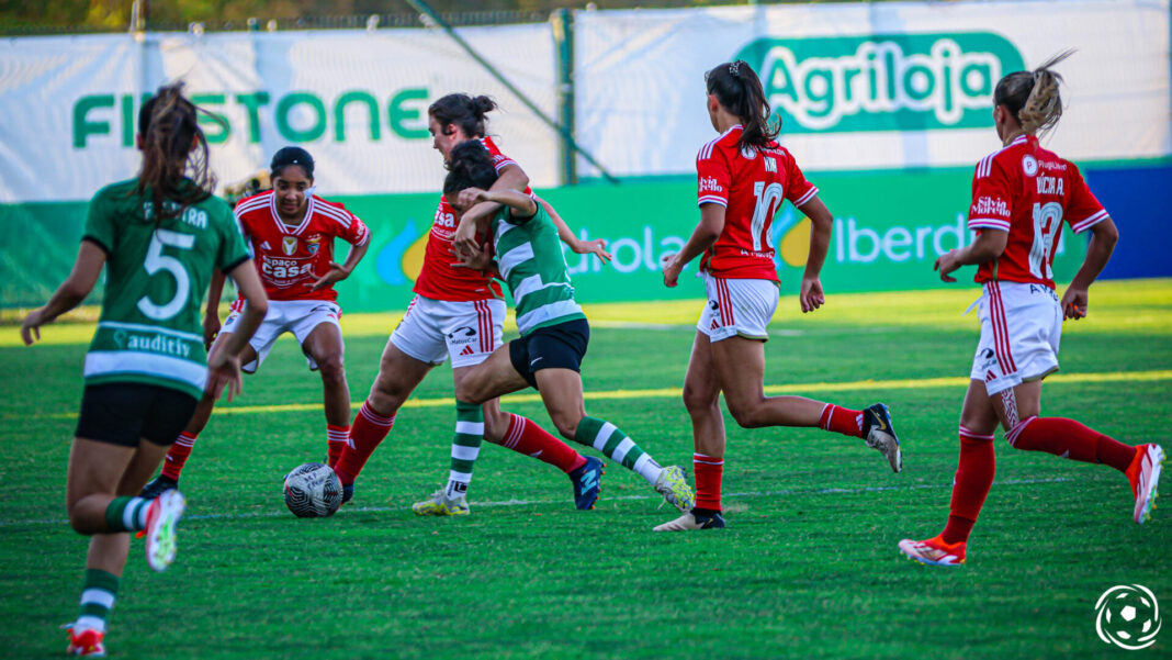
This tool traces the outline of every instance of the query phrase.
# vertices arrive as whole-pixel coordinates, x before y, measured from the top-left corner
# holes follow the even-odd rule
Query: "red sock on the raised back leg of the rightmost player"
[[[1136,456],[1136,448],[1064,417],[1028,417],[1006,436],[1009,444],[1027,451],[1045,451],[1083,463],[1104,463],[1120,472]]]

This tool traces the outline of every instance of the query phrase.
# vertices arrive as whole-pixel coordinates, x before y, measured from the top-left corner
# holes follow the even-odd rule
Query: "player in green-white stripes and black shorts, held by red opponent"
[[[463,218],[469,210],[485,202],[503,207],[490,217],[481,216],[477,233],[491,237],[492,251],[499,266],[491,266],[485,250],[458,250],[461,261],[479,272],[498,272],[509,285],[517,311],[520,339],[500,346],[456,383],[456,435],[452,458],[465,461],[466,470],[454,464],[445,488],[430,499],[435,508],[466,506],[464,494],[484,437],[481,404],[511,392],[534,387],[550,419],[563,437],[593,447],[608,458],[622,463],[649,483],[663,498],[686,511],[691,506],[691,488],[683,470],[661,468],[614,424],[586,416],[581,359],[590,341],[590,326],[581,307],[574,301],[566,260],[558,244],[558,231],[548,212],[531,195],[496,189],[498,175],[493,156],[478,142],[456,145],[448,163],[444,196]]]

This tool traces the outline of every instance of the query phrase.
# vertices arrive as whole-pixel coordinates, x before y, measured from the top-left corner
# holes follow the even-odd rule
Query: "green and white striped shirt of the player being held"
[[[574,301],[558,227],[541,204],[531,218],[515,218],[509,206],[502,209],[492,218],[492,245],[522,334],[586,318]]]

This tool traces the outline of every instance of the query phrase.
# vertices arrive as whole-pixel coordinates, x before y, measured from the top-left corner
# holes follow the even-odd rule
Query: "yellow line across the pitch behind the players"
[[[1045,379],[1048,383],[1071,385],[1089,382],[1157,382],[1172,380],[1172,369],[1153,369],[1149,372],[1098,372],[1086,374],[1054,374]],[[850,382],[808,382],[789,385],[768,385],[765,394],[813,394],[824,392],[858,392],[864,389],[929,389],[934,387],[968,387],[967,376],[945,376],[935,379],[904,379],[904,380],[865,380]],[[683,390],[679,387],[661,387],[650,389],[611,389],[602,392],[587,392],[586,401],[607,401],[614,399],[677,399]],[[512,394],[502,397],[504,403],[539,403],[539,394]],[[407,408],[451,408],[456,406],[456,400],[450,396],[440,399],[409,399],[403,403]],[[352,410],[362,407],[362,401],[350,403]],[[306,410],[321,410],[321,403],[281,403],[275,406],[239,406],[236,408],[216,408],[213,415],[258,415],[267,413],[301,413]],[[54,413],[42,415],[50,420],[75,420],[77,413]],[[23,420],[28,415],[6,414],[5,420]]]

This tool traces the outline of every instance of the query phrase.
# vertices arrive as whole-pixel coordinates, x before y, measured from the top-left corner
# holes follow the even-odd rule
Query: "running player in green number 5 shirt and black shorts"
[[[162,461],[205,388],[214,396],[227,386],[230,399],[239,390],[238,354],[265,314],[265,292],[231,210],[209,192],[214,181],[207,143],[180,86],[163,87],[143,104],[137,142],[143,152],[138,176],[94,196],[73,272],[21,326],[25,343],[32,345],[42,325],[86,299],[107,266],[66,487],[69,522],[90,536],[70,655],[105,654],[105,619],[127,563],[128,532],[145,531],[146,562],[156,571],[175,559],[183,495],[131,495]],[[205,366],[199,302],[213,268],[237,278],[250,307],[234,339],[217,347]]]

